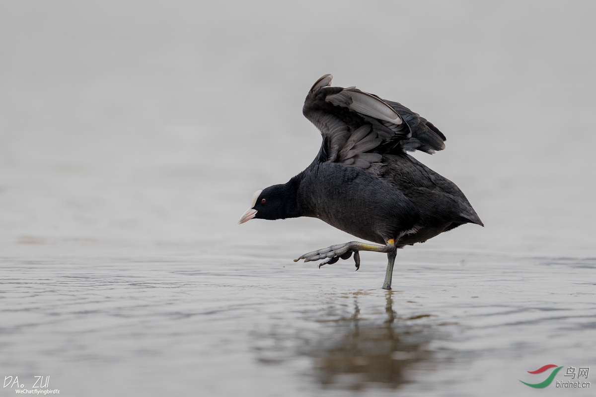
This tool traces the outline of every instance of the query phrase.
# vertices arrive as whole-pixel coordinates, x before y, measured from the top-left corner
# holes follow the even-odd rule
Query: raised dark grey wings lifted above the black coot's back
[[[355,87],[331,87],[331,79],[315,82],[302,110],[323,137],[315,162],[366,169],[383,154],[445,148],[445,136],[420,115]]]

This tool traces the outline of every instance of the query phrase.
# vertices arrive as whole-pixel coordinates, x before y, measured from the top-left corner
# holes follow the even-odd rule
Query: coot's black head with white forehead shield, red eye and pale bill
[[[238,224],[257,219],[285,219],[299,216],[296,208],[296,190],[288,182],[254,192],[250,208],[242,214]]]

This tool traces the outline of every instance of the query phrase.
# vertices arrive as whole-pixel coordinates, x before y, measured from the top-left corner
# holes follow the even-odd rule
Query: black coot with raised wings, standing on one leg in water
[[[368,242],[350,241],[296,261],[333,264],[360,251],[387,254],[383,289],[390,290],[398,248],[462,224],[484,226],[464,193],[408,152],[433,154],[446,137],[398,102],[356,87],[331,86],[325,74],[306,95],[303,114],[321,132],[318,154],[287,183],[257,190],[238,224],[253,218],[318,218]],[[373,243],[369,243],[373,242]]]

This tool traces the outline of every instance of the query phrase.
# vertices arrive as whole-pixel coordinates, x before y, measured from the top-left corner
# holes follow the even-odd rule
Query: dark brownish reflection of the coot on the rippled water
[[[329,314],[316,315],[316,330],[275,327],[266,336],[257,337],[257,360],[278,365],[300,356],[312,358],[313,370],[308,372],[324,388],[396,388],[407,383],[413,364],[430,358],[427,345],[434,332],[429,326],[412,323],[429,314],[399,317],[393,311],[392,293],[386,292],[384,314],[367,309],[366,318],[361,317],[358,299],[368,293],[355,292],[341,296],[353,298],[350,317],[337,318],[337,305],[333,305],[332,319]],[[294,354],[288,354],[290,351]]]

